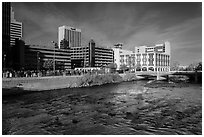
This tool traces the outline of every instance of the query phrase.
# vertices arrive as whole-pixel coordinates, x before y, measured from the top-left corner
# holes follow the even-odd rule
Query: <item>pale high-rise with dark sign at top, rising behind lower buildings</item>
[[[58,28],[58,47],[59,49],[67,46],[61,46],[62,41],[67,40],[69,47],[81,46],[81,30],[70,26],[61,26]]]

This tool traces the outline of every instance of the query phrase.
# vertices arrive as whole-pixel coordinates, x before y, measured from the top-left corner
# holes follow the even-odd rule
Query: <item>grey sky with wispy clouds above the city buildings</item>
[[[82,45],[93,39],[98,46],[123,43],[134,51],[169,41],[171,62],[202,61],[201,2],[12,2],[12,7],[27,44],[52,46],[58,27],[67,25],[82,30]]]

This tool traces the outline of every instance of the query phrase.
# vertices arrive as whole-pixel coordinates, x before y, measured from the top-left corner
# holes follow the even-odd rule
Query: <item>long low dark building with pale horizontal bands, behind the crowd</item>
[[[36,45],[26,46],[26,69],[43,69],[43,64],[47,60],[53,60],[55,62],[56,70],[71,69],[71,54],[69,49],[56,49]]]

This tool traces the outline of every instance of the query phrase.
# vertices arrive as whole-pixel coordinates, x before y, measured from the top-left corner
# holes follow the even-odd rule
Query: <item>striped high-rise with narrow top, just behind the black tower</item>
[[[23,37],[23,25],[22,22],[18,22],[14,18],[14,11],[11,7],[11,24],[10,24],[10,45],[13,47],[15,45],[16,39],[21,39]]]

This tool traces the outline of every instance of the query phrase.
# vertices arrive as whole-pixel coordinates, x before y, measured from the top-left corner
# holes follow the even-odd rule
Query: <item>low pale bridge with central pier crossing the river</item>
[[[157,77],[157,80],[159,80],[160,77],[165,77],[168,80],[169,75],[184,75],[189,77],[189,79],[194,80],[195,83],[198,82],[199,78],[202,79],[202,71],[169,71],[169,72],[136,71],[135,74],[137,76],[143,76],[146,78]]]

